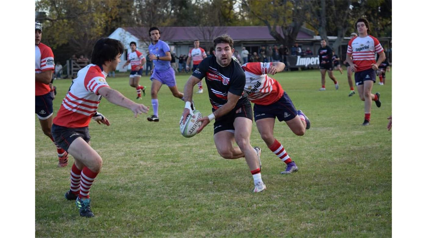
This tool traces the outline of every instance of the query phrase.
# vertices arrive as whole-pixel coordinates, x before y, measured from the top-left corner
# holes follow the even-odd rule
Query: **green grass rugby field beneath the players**
[[[296,136],[276,121],[275,136],[299,167],[298,173],[284,176],[283,162],[253,125],[251,144],[263,151],[267,186],[260,194],[252,192],[244,159],[225,160],[216,152],[212,123],[193,138],[180,134],[184,103],[166,86],[158,96],[159,123],[148,122],[146,115],[134,118],[130,110],[103,99],[99,112],[111,126],[89,126],[92,147],[104,160],[91,188],[95,217],[90,219],[65,200],[71,165],[56,167],[55,147],[35,116],[35,236],[391,237],[392,133],[386,118],[392,114],[392,73],[386,85],[374,85],[382,106],[373,103],[370,126],[360,125],[364,104],[357,94],[348,97],[345,74],[334,74],[337,91],[328,78],[327,90],[318,91],[319,71],[274,76],[310,118],[311,128]],[[177,76],[180,91],[188,76]],[[107,80],[135,100],[127,75]],[[70,80],[54,85],[56,113]],[[149,78],[143,76],[141,85],[149,88]],[[139,102],[150,106],[151,115],[147,92]],[[203,115],[211,112],[206,87],[193,100]]]

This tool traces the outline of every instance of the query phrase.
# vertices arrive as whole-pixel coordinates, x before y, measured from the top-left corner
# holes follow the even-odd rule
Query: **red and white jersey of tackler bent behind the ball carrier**
[[[253,62],[242,65],[245,71],[245,96],[255,104],[270,105],[283,96],[279,82],[267,75],[270,63]]]

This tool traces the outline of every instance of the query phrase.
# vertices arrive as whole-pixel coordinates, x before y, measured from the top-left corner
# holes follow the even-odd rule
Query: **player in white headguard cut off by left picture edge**
[[[53,95],[52,74],[55,70],[53,52],[47,45],[41,43],[41,24],[35,23],[35,113],[40,122],[41,130],[56,146],[58,153],[58,167],[68,165],[68,153],[53,140],[50,129],[52,128]]]

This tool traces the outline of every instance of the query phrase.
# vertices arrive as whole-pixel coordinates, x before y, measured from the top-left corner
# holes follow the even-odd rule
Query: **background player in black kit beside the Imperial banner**
[[[319,62],[320,62],[320,74],[322,75],[322,88],[319,89],[319,91],[325,91],[325,75],[326,71],[328,71],[328,76],[330,79],[332,79],[333,83],[335,84],[335,89],[338,89],[338,82],[335,79],[335,76],[333,76],[333,67],[332,67],[332,49],[326,45],[325,39],[322,39],[320,41],[320,45],[322,47],[319,48]]]

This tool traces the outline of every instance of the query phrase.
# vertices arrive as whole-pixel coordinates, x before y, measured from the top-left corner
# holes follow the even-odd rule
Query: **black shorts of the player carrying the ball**
[[[228,112],[228,114],[215,119],[215,123],[213,123],[213,134],[225,130],[234,131],[234,119],[238,117],[249,118],[252,120],[252,106],[249,100],[246,100],[243,104],[235,106],[234,109]]]

